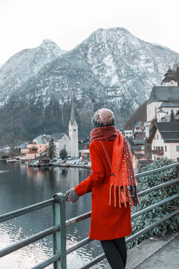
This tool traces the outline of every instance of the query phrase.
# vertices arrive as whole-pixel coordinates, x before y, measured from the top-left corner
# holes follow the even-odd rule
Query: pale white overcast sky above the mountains
[[[0,64],[44,39],[70,50],[109,27],[179,53],[178,10],[177,0],[0,0]]]

